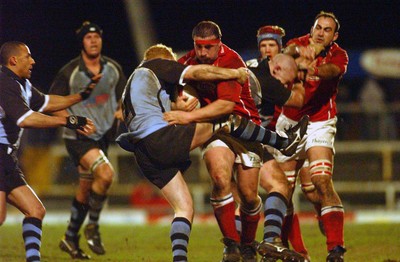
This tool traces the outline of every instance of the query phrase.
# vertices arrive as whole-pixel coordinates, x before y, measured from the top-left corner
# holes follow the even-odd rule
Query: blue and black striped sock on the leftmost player
[[[22,222],[22,236],[25,243],[26,261],[40,261],[42,220],[35,217],[26,217]]]

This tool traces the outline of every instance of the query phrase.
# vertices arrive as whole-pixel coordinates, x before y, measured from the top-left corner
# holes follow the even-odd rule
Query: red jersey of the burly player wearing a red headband
[[[181,57],[178,62],[185,65],[197,65],[198,61],[196,60],[194,49]],[[224,44],[222,44],[213,65],[224,68],[246,67],[240,55]],[[256,124],[261,124],[258,110],[250,94],[249,81],[244,85],[240,85],[237,81],[224,81],[217,84],[201,82],[195,86],[202,106],[210,104],[217,99],[232,101],[235,102],[234,113],[248,117]]]

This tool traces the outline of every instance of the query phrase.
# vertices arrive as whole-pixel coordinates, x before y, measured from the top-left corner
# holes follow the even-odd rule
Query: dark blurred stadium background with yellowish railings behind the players
[[[336,189],[347,210],[400,211],[400,1],[0,0],[0,44],[18,40],[30,47],[31,82],[47,92],[58,70],[79,54],[75,30],[85,20],[103,28],[103,54],[129,76],[152,44],[178,54],[191,49],[199,21],[219,24],[222,41],[247,60],[257,56],[260,26],[282,26],[286,42],[308,33],[321,10],[338,17],[337,43],[350,58],[337,99]],[[48,208],[69,201],[77,182],[59,131],[27,130],[21,148],[28,181]],[[130,154],[114,145],[109,155],[118,173],[110,206],[165,205]],[[197,212],[208,212],[208,174],[198,151],[186,178]],[[301,194],[296,201],[298,209],[311,209]]]

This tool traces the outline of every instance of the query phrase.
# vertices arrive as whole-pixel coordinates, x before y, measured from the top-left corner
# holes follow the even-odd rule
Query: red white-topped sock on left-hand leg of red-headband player
[[[210,198],[214,209],[214,215],[218,222],[224,238],[229,238],[237,243],[240,242],[240,236],[236,231],[235,225],[235,201],[233,195],[229,194],[220,199]]]

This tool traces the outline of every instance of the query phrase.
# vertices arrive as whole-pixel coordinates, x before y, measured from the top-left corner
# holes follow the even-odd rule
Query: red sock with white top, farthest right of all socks
[[[326,233],[328,251],[336,246],[344,247],[344,208],[343,206],[326,206],[321,210],[321,219]]]

